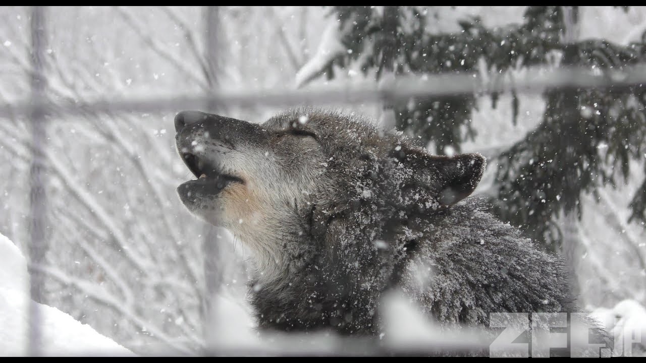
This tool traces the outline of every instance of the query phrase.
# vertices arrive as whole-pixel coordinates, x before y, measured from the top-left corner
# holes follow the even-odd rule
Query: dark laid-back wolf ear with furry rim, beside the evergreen
[[[448,207],[460,202],[477,187],[485,172],[486,159],[481,154],[430,156],[431,169],[437,173],[437,201]]]

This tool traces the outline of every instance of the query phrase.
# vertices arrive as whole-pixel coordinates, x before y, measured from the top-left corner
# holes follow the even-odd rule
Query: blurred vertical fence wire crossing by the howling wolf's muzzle
[[[209,83],[210,91],[216,90],[218,85],[218,6],[203,7],[204,21],[204,57],[207,64],[206,76]],[[207,94],[210,96],[210,94]],[[215,112],[218,105],[216,101],[208,101],[205,105],[208,112]],[[215,295],[220,288],[222,280],[222,261],[218,253],[217,232],[213,225],[207,224],[204,228],[202,251],[204,266],[204,290],[202,296],[202,309],[204,318],[202,319],[202,331],[204,335],[205,349],[204,355],[213,354],[216,349],[217,329],[216,329],[216,299]]]

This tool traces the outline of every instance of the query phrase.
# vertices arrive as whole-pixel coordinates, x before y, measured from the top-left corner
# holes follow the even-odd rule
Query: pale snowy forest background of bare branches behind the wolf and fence
[[[344,21],[357,14],[369,20]],[[30,94],[29,15],[28,7],[0,8],[4,104]],[[49,7],[47,94],[63,102],[216,88],[308,90],[411,72],[504,70],[522,76],[528,65],[621,67],[646,57],[646,8],[639,6],[581,7],[574,15],[526,6],[221,6],[216,67],[205,57],[203,19],[200,7]],[[478,43],[485,37],[489,45]],[[433,39],[439,46],[424,45]],[[559,42],[582,50],[568,56]],[[464,44],[477,50],[469,52]],[[421,54],[429,60],[419,60]],[[583,105],[580,112],[561,108],[567,99]],[[644,89],[637,88],[570,98],[562,92],[510,93],[336,106],[421,136],[430,152],[484,154],[488,168],[476,193],[498,201],[501,218],[545,248],[570,257],[579,302],[592,308],[625,298],[646,300],[645,101]],[[261,122],[279,110],[217,105],[209,111]],[[244,248],[226,231],[189,215],[176,196],[176,186],[191,178],[174,147],[172,119],[178,111],[83,110],[47,123],[49,248],[44,265],[30,266],[46,278],[43,303],[136,353],[202,346],[205,238],[222,240],[221,305],[239,313],[244,324],[250,321]],[[553,119],[563,123],[563,115],[587,129],[552,130],[561,138],[541,134]],[[581,136],[593,129],[594,136]],[[26,251],[30,124],[19,115],[3,118],[0,132],[0,233]],[[546,145],[563,148],[558,165],[541,160],[540,152],[532,156]],[[574,160],[579,157],[580,163]],[[559,179],[567,173],[579,177]],[[541,180],[544,188],[519,182],[526,179]]]

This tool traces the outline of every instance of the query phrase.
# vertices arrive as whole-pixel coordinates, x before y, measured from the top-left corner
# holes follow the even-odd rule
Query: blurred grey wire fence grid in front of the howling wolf
[[[205,6],[203,10],[205,21],[205,44],[209,58],[209,70],[212,79],[210,85],[216,84],[218,64],[216,63],[216,47],[218,41],[218,8]],[[84,112],[152,112],[152,111],[178,111],[185,109],[217,109],[218,105],[265,105],[265,106],[295,106],[295,105],[329,105],[335,103],[391,103],[393,101],[408,100],[411,98],[448,96],[452,94],[487,94],[491,92],[516,92],[537,93],[546,88],[612,88],[620,90],[626,87],[643,86],[646,83],[646,65],[638,64],[622,69],[600,70],[598,68],[528,68],[514,78],[505,77],[496,82],[489,82],[489,78],[501,76],[495,74],[437,74],[432,76],[401,76],[386,79],[379,83],[362,81],[348,85],[329,85],[311,90],[295,88],[264,89],[264,90],[222,90],[213,89],[207,94],[169,95],[165,98],[140,98],[140,99],[96,99],[94,101],[52,101],[47,97],[47,80],[43,78],[43,62],[45,54],[45,38],[47,36],[47,11],[43,6],[32,8],[30,23],[32,39],[32,66],[31,95],[29,99],[12,104],[0,105],[0,117],[28,116],[32,125],[32,142],[34,151],[30,165],[30,209],[33,216],[30,225],[29,258],[31,265],[43,265],[44,256],[48,248],[44,229],[47,225],[46,209],[47,195],[44,185],[46,183],[43,173],[43,150],[47,149],[47,135],[45,134],[46,116],[82,115]],[[208,244],[207,244],[208,245]],[[205,260],[215,261],[215,251],[206,249]],[[205,266],[210,266],[206,263]],[[207,267],[205,267],[207,268]],[[209,284],[216,281],[214,271],[205,271],[207,278],[207,295],[215,293],[217,286]],[[32,274],[30,279],[30,294],[32,300],[43,301],[43,278],[39,274]],[[212,300],[212,299],[209,299]],[[212,307],[211,307],[212,308]],[[208,315],[209,309],[205,312]],[[30,311],[29,349],[32,356],[41,355],[40,327],[42,316],[37,309]],[[209,324],[213,320],[205,316],[203,332],[206,337],[212,335]],[[207,338],[206,342],[216,340],[216,337]],[[328,348],[318,347],[309,349],[295,344],[282,351],[275,349],[211,349],[207,347],[203,355],[384,355],[397,354],[395,347],[384,347],[373,340],[343,338],[335,340]],[[482,343],[464,344],[462,338],[444,341],[443,347],[452,349],[485,349],[488,345]],[[427,353],[433,351],[432,342],[424,347],[408,349],[406,354]],[[452,345],[453,344],[453,345]],[[437,345],[437,344],[436,344]],[[289,345],[282,345],[287,347]],[[419,348],[419,349],[418,349]],[[287,350],[285,350],[287,349]],[[172,354],[171,351],[168,352]],[[401,352],[400,352],[401,353]]]

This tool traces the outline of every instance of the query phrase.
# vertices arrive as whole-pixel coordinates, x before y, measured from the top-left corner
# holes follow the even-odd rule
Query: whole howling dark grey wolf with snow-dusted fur
[[[175,127],[197,177],[178,194],[253,251],[260,327],[378,335],[380,297],[395,288],[446,326],[574,309],[561,261],[466,198],[480,154],[432,156],[319,109],[262,124],[184,111]]]

